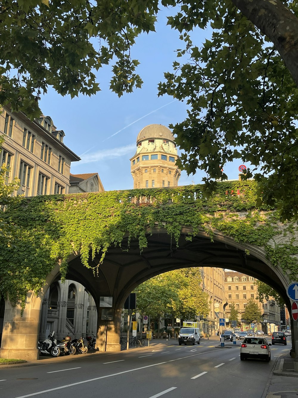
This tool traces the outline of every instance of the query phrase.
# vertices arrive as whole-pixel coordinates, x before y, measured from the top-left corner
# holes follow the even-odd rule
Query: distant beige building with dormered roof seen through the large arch
[[[255,330],[263,330],[266,334],[277,332],[281,330],[280,308],[272,297],[268,301],[264,301],[264,303],[257,300],[257,286],[254,284],[256,280],[254,277],[241,272],[225,272],[224,287],[228,297],[225,318],[229,318],[230,308],[234,302],[235,308],[238,310],[238,327],[243,330],[251,329],[250,324],[242,318],[242,315],[244,314],[247,300],[253,298],[257,301],[262,314],[262,322],[258,322],[255,325]],[[227,326],[230,326],[230,322]]]

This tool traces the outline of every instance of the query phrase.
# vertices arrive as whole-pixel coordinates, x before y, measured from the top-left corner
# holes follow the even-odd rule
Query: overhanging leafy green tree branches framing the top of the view
[[[282,220],[297,219],[297,2],[161,4],[175,7],[168,24],[184,43],[173,71],[159,84],[159,95],[189,106],[188,117],[173,126],[180,167],[189,174],[204,170],[210,193],[215,179],[227,177],[226,162],[248,162],[243,178],[258,181],[259,203],[278,205]],[[38,117],[38,100],[48,86],[72,97],[94,94],[94,70],[111,62],[111,90],[121,96],[141,87],[130,49],[137,35],[155,30],[158,10],[158,0],[2,2],[0,103]],[[192,42],[197,27],[213,29],[202,47]]]

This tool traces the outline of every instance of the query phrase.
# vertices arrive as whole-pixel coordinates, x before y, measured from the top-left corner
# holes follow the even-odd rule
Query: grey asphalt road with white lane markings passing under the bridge
[[[216,348],[218,344],[201,340],[200,345],[179,346],[171,341],[162,348],[0,369],[0,397],[261,398],[276,357],[290,349],[289,338],[286,347],[272,346],[272,360],[266,363],[240,361],[239,341],[236,346],[225,343],[231,348]]]

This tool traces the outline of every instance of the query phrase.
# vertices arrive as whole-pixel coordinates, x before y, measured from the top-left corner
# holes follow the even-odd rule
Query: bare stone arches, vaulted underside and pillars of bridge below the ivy
[[[182,226],[176,245],[164,228],[152,228],[146,234],[148,244],[142,252],[139,250],[137,239],[130,240],[125,236],[121,247],[114,246],[108,249],[103,263],[100,264],[101,253],[89,260],[89,266],[95,267],[94,269],[83,266],[79,252],[70,256],[66,278],[81,283],[95,300],[98,314],[97,345],[100,350],[120,350],[120,316],[128,294],[147,279],[174,269],[210,266],[246,273],[273,287],[290,308],[290,300],[286,296],[288,275],[281,267],[270,263],[264,248],[236,242],[232,237],[215,229],[212,230],[212,240],[209,232],[203,228],[199,228],[192,240],[188,238],[189,232],[188,226]],[[13,307],[10,302],[6,302],[2,357],[37,358],[42,301],[50,285],[58,279],[60,267],[57,263],[38,295],[28,293],[23,317],[20,316],[19,306]],[[113,321],[106,322],[101,319],[101,296],[113,297]],[[296,331],[297,325],[293,324],[292,330]],[[296,334],[293,334],[293,341],[297,340]]]

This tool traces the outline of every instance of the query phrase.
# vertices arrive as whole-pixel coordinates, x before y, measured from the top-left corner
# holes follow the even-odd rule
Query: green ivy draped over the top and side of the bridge
[[[82,264],[91,267],[90,258],[101,253],[103,261],[111,245],[121,246],[125,234],[128,245],[138,239],[142,251],[155,226],[165,228],[176,244],[182,226],[188,226],[188,239],[203,228],[212,240],[215,229],[236,242],[263,246],[271,263],[294,277],[297,228],[281,224],[275,209],[257,209],[257,196],[254,181],[227,181],[218,183],[210,197],[201,185],[190,185],[17,198],[3,213],[14,236],[10,244],[0,242],[0,294],[24,308],[27,291],[38,292],[58,260],[63,280],[71,254],[79,252]],[[281,234],[288,237],[286,243],[274,244]]]

